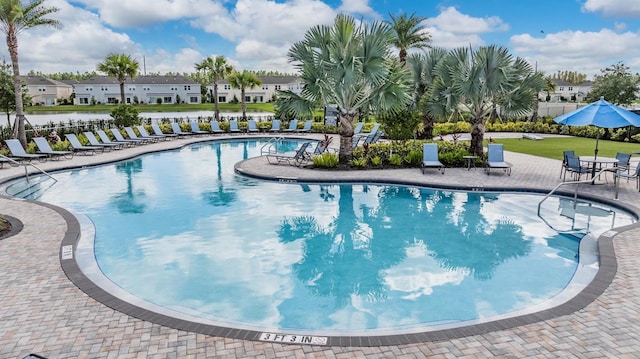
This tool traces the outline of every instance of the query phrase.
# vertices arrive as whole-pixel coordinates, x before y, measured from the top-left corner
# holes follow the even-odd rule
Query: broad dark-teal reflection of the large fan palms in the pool
[[[320,196],[332,200],[334,188],[321,186]],[[495,195],[390,186],[381,189],[377,205],[363,204],[356,211],[352,186],[338,188],[338,215],[329,225],[323,227],[306,214],[283,220],[278,232],[282,242],[304,242],[294,273],[310,292],[333,298],[338,308],[352,296],[384,301],[389,290],[385,271],[401,263],[416,242],[423,242],[442,268],[465,270],[480,280],[490,279],[501,263],[531,251],[532,244],[513,221],[490,223],[482,215]],[[461,199],[464,206],[454,204]],[[438,211],[446,211],[448,220],[442,221]]]

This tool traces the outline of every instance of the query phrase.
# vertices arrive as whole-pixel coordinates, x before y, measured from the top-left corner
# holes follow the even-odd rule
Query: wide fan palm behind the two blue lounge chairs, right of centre
[[[470,113],[470,152],[483,152],[484,125],[494,106],[508,116],[525,116],[534,105],[535,94],[545,88],[541,73],[522,58],[514,58],[504,47],[491,45],[476,51],[453,50],[437,66],[438,77],[425,101],[436,116],[457,111]]]

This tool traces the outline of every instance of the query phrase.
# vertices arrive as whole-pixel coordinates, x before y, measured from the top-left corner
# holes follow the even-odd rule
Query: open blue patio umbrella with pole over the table
[[[640,115],[625,110],[600,98],[587,106],[565,113],[553,119],[557,123],[568,126],[596,126],[601,128],[618,128],[625,126],[640,127]],[[595,157],[598,156],[598,141],[600,132],[596,135]]]

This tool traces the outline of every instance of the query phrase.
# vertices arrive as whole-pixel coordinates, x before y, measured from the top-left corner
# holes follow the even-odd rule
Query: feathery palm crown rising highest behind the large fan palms
[[[422,24],[426,18],[416,16],[415,13],[407,17],[407,14],[394,16],[389,14],[391,21],[391,30],[393,31],[393,40],[391,44],[398,48],[398,59],[401,64],[406,62],[407,50],[424,49],[429,47],[431,35],[425,30],[426,26]]]

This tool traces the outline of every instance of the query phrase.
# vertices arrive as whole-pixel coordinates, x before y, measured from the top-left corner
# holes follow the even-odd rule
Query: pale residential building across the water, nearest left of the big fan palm
[[[262,86],[245,89],[245,102],[264,103],[276,98],[278,90],[302,91],[302,83],[297,76],[258,76]],[[213,96],[213,83],[207,85],[208,98]],[[232,88],[227,80],[218,81],[218,102],[229,103],[234,99],[240,101],[240,89]]]

